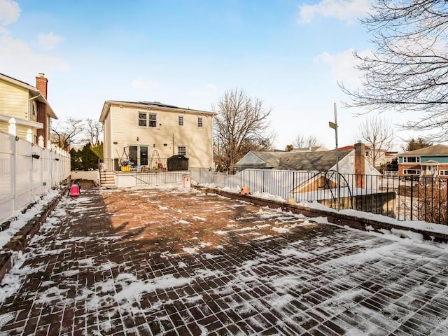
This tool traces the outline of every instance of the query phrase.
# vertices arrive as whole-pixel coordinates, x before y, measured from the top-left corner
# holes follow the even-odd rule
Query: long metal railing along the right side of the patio
[[[197,183],[269,193],[296,202],[318,202],[337,209],[355,209],[396,218],[448,224],[447,179],[245,169],[235,175],[195,174]],[[204,174],[205,173],[205,174]]]

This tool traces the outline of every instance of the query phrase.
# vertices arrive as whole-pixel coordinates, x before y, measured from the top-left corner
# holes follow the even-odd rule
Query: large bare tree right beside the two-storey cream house
[[[260,99],[248,97],[244,90],[236,88],[227,90],[212,109],[218,113],[215,148],[219,151],[218,160],[225,167],[234,165],[249,147],[256,151],[272,146],[273,136],[267,134],[272,109],[266,109]]]

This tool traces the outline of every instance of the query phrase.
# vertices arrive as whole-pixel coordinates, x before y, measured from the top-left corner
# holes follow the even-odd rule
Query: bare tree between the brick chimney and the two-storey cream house
[[[65,122],[58,121],[55,125],[50,125],[50,141],[65,151],[70,151],[71,146],[82,142],[78,138],[84,131],[83,120],[67,118]]]

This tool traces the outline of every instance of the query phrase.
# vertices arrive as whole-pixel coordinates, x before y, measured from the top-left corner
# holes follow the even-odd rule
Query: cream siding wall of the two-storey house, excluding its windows
[[[109,115],[104,120],[107,158],[120,159],[123,156],[123,148],[127,146],[148,146],[148,159],[155,150],[160,158],[169,158],[178,155],[178,146],[186,146],[190,167],[211,167],[211,116],[182,110],[177,112],[151,108],[151,113],[157,114],[157,126],[145,127],[139,126],[139,111],[146,113],[148,109],[115,104],[111,106]],[[183,126],[179,126],[179,116],[183,116]],[[197,126],[198,117],[202,118],[202,127]]]

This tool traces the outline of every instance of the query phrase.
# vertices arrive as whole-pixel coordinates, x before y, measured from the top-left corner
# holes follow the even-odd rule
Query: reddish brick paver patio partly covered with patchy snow
[[[448,335],[448,255],[195,190],[63,197],[0,335]]]

